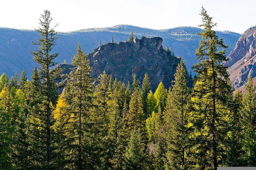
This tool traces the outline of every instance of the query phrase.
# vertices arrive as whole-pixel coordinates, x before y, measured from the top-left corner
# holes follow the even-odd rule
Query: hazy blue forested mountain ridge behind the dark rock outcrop
[[[62,63],[66,59],[70,63],[71,57],[75,53],[77,42],[80,42],[81,48],[88,54],[99,47],[100,39],[103,44],[107,41],[111,42],[113,34],[114,42],[125,41],[126,39],[128,40],[131,31],[134,32],[134,36],[138,34],[139,38],[143,36],[162,37],[162,45],[164,47],[170,46],[176,56],[183,57],[188,70],[196,62],[195,50],[201,39],[200,36],[196,35],[197,32],[201,32],[201,29],[197,27],[154,30],[131,25],[115,25],[106,28],[60,32],[53,52],[60,53],[56,59],[57,62]],[[230,46],[227,49],[227,54],[229,54],[234,49],[240,34],[230,31],[216,31],[216,33],[220,38],[223,37],[224,42]],[[8,76],[11,76],[15,72],[20,74],[25,69],[30,76],[36,64],[30,51],[38,48],[35,45],[31,45],[31,41],[36,41],[38,36],[36,31],[0,28],[0,72],[5,72]]]

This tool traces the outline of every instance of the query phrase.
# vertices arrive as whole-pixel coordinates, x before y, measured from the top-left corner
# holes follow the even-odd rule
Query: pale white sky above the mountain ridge
[[[151,29],[198,27],[201,7],[207,10],[215,30],[243,33],[256,24],[255,0],[3,0],[0,27],[34,29],[40,14],[49,10],[56,31],[129,24]]]

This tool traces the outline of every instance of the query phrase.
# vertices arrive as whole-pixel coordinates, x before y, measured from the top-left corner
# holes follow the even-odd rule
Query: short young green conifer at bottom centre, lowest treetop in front
[[[146,169],[144,147],[141,142],[141,134],[137,128],[134,128],[125,153],[125,169]]]

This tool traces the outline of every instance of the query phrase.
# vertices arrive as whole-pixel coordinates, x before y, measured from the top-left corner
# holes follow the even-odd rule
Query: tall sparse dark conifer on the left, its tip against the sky
[[[41,15],[40,27],[35,31],[39,32],[40,36],[37,38],[38,42],[32,42],[32,44],[40,45],[37,51],[33,51],[34,60],[39,64],[38,76],[40,78],[40,90],[35,94],[31,94],[32,100],[41,101],[30,109],[29,122],[30,122],[30,145],[33,145],[32,158],[33,165],[40,166],[44,169],[53,169],[55,167],[55,160],[58,159],[57,153],[57,131],[54,129],[55,118],[54,109],[57,103],[57,86],[55,80],[58,78],[60,69],[54,68],[55,58],[58,53],[51,53],[56,37],[56,32],[51,29],[50,23],[52,18],[50,17],[48,10],[44,11]],[[23,83],[25,82],[26,75],[23,71],[21,76],[22,91],[24,90]],[[25,90],[24,90],[25,91]]]

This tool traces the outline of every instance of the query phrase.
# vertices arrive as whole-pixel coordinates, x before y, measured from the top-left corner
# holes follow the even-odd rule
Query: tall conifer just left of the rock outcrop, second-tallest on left
[[[91,169],[92,164],[88,155],[91,155],[92,148],[90,143],[90,121],[91,110],[93,107],[93,86],[90,72],[92,68],[89,66],[89,60],[78,43],[77,53],[72,58],[73,68],[69,74],[69,80],[65,87],[63,100],[67,104],[67,112],[71,115],[69,124],[69,140],[70,145],[67,146],[70,152],[69,160],[71,169]],[[92,155],[91,155],[92,156]]]

